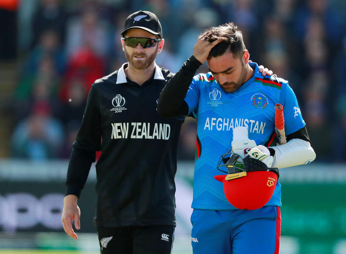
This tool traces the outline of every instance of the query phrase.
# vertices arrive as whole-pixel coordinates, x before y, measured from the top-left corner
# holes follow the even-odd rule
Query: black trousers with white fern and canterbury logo
[[[97,227],[101,254],[171,254],[174,226]]]

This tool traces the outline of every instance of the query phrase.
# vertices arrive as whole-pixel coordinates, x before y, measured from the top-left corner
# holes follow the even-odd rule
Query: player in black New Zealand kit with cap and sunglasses
[[[128,63],[94,82],[67,170],[62,222],[80,228],[77,199],[95,152],[100,252],[171,253],[175,218],[176,151],[183,120],[157,114],[157,99],[173,76],[155,64],[164,39],[154,13],[131,14],[121,33]]]

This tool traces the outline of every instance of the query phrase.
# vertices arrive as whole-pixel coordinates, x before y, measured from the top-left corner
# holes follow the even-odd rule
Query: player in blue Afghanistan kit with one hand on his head
[[[195,75],[206,60],[210,72]],[[283,105],[287,143],[275,146],[272,137],[277,103]],[[218,175],[220,155],[231,148],[237,127],[247,129],[248,139],[254,141],[250,149],[266,154],[268,168],[308,164],[315,159],[288,81],[262,76],[258,65],[249,62],[242,33],[233,23],[226,23],[207,29],[197,39],[193,55],[162,90],[157,112],[165,117],[193,115],[198,121],[191,215],[193,253],[279,253],[280,183],[263,207],[245,210],[230,204],[214,176]],[[247,156],[244,153],[242,158]]]

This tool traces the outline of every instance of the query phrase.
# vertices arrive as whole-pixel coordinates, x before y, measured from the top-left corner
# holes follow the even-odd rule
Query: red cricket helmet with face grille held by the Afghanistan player
[[[279,170],[268,168],[265,163],[240,155],[226,153],[220,157],[217,169],[228,173],[214,178],[224,184],[228,202],[238,209],[254,210],[264,206],[273,196]],[[227,171],[222,169],[227,168]]]

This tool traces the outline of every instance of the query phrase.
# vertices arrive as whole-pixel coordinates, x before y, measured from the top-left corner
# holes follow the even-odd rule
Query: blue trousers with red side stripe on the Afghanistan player
[[[277,254],[280,207],[201,210],[191,215],[193,254]]]

